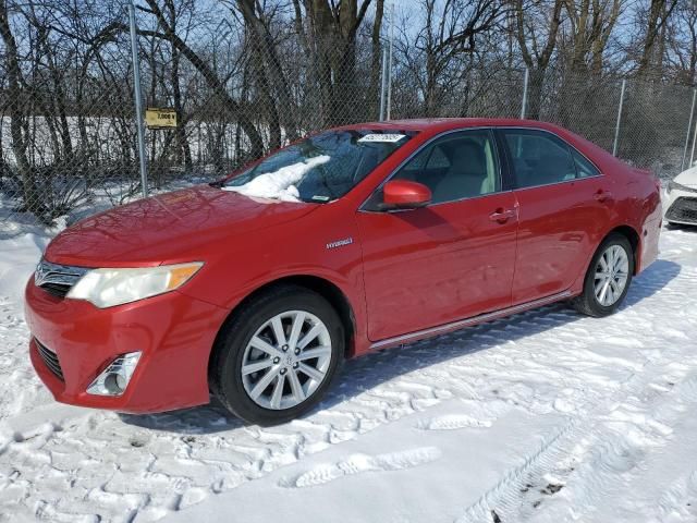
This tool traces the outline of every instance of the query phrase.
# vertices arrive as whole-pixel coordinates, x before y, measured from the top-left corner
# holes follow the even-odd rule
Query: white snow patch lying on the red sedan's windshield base
[[[297,192],[296,184],[310,169],[327,163],[330,159],[327,155],[318,156],[307,161],[282,167],[278,171],[259,174],[244,185],[225,185],[222,190],[257,198],[299,202],[301,195]]]

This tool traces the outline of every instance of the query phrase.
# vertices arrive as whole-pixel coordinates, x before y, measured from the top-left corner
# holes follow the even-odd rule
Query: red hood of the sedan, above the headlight
[[[83,267],[205,260],[217,242],[295,220],[317,207],[198,185],[82,220],[56,236],[45,256],[54,264]]]

